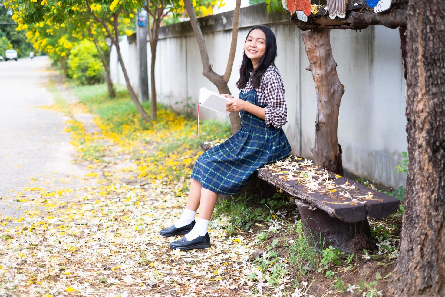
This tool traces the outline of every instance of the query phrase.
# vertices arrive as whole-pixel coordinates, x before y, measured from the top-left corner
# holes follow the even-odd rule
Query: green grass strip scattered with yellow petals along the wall
[[[128,92],[123,86],[118,86],[116,98],[109,98],[105,84],[77,86],[72,85],[71,89],[79,98],[79,101],[88,109],[99,116],[102,123],[109,127],[109,132],[123,134],[127,139],[136,139],[140,136],[141,130],[154,130],[158,135],[166,134],[169,130],[169,138],[161,139],[154,148],[169,154],[178,149],[184,143],[190,147],[198,148],[199,143],[214,139],[230,137],[230,123],[218,122],[214,120],[200,121],[199,138],[196,137],[196,119],[188,118],[185,115],[173,111],[169,106],[157,104],[158,120],[145,122],[138,114],[138,110],[129,99]],[[151,102],[143,102],[142,106],[150,116]],[[173,117],[170,116],[170,113]],[[172,131],[174,122],[182,120],[180,130]],[[130,129],[129,129],[130,127]],[[186,134],[182,132],[191,132]],[[177,132],[177,133],[174,133]],[[174,139],[172,141],[172,139]],[[153,139],[141,139],[146,143],[153,142]],[[164,140],[164,141],[162,141]]]

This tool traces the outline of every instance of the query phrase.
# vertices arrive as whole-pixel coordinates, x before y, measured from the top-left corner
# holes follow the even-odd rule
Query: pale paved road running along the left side
[[[4,197],[22,191],[31,177],[60,179],[85,173],[71,163],[73,147],[63,132],[68,118],[39,108],[54,102],[46,88],[48,66],[48,57],[0,62],[0,216],[18,214],[16,205],[8,207],[11,199]],[[57,184],[46,184],[50,186]]]

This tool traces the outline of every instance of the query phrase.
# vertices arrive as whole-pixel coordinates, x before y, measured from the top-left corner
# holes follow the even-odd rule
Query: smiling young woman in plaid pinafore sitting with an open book
[[[270,28],[255,26],[249,31],[237,82],[239,98],[223,94],[232,98],[226,110],[241,113],[241,129],[196,160],[181,218],[159,232],[162,236],[186,234],[172,241],[170,248],[209,248],[207,228],[218,194],[239,192],[256,169],[290,155],[291,146],[281,129],[287,122],[287,107],[283,81],[274,63],[276,54],[275,35]]]

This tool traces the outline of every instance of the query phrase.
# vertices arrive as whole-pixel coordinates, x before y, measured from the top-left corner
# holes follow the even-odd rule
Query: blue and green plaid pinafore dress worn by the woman
[[[246,93],[241,91],[239,98],[256,106],[267,106],[259,105],[254,89]],[[266,127],[265,120],[245,110],[240,114],[241,129],[200,155],[190,175],[202,187],[218,194],[236,194],[259,167],[291,154],[282,128]]]

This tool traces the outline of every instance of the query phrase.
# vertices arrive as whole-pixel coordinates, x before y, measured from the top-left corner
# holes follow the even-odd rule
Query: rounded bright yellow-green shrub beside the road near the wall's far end
[[[104,81],[105,71],[91,41],[84,40],[71,50],[68,67],[69,76],[79,85],[94,85]]]

